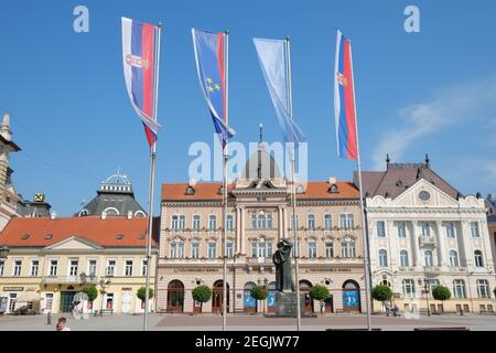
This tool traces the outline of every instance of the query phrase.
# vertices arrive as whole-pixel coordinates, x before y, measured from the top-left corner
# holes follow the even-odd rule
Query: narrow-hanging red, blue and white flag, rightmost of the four
[[[337,31],[334,69],[334,114],[337,156],[357,159],[355,92],[353,87],[352,42]]]

